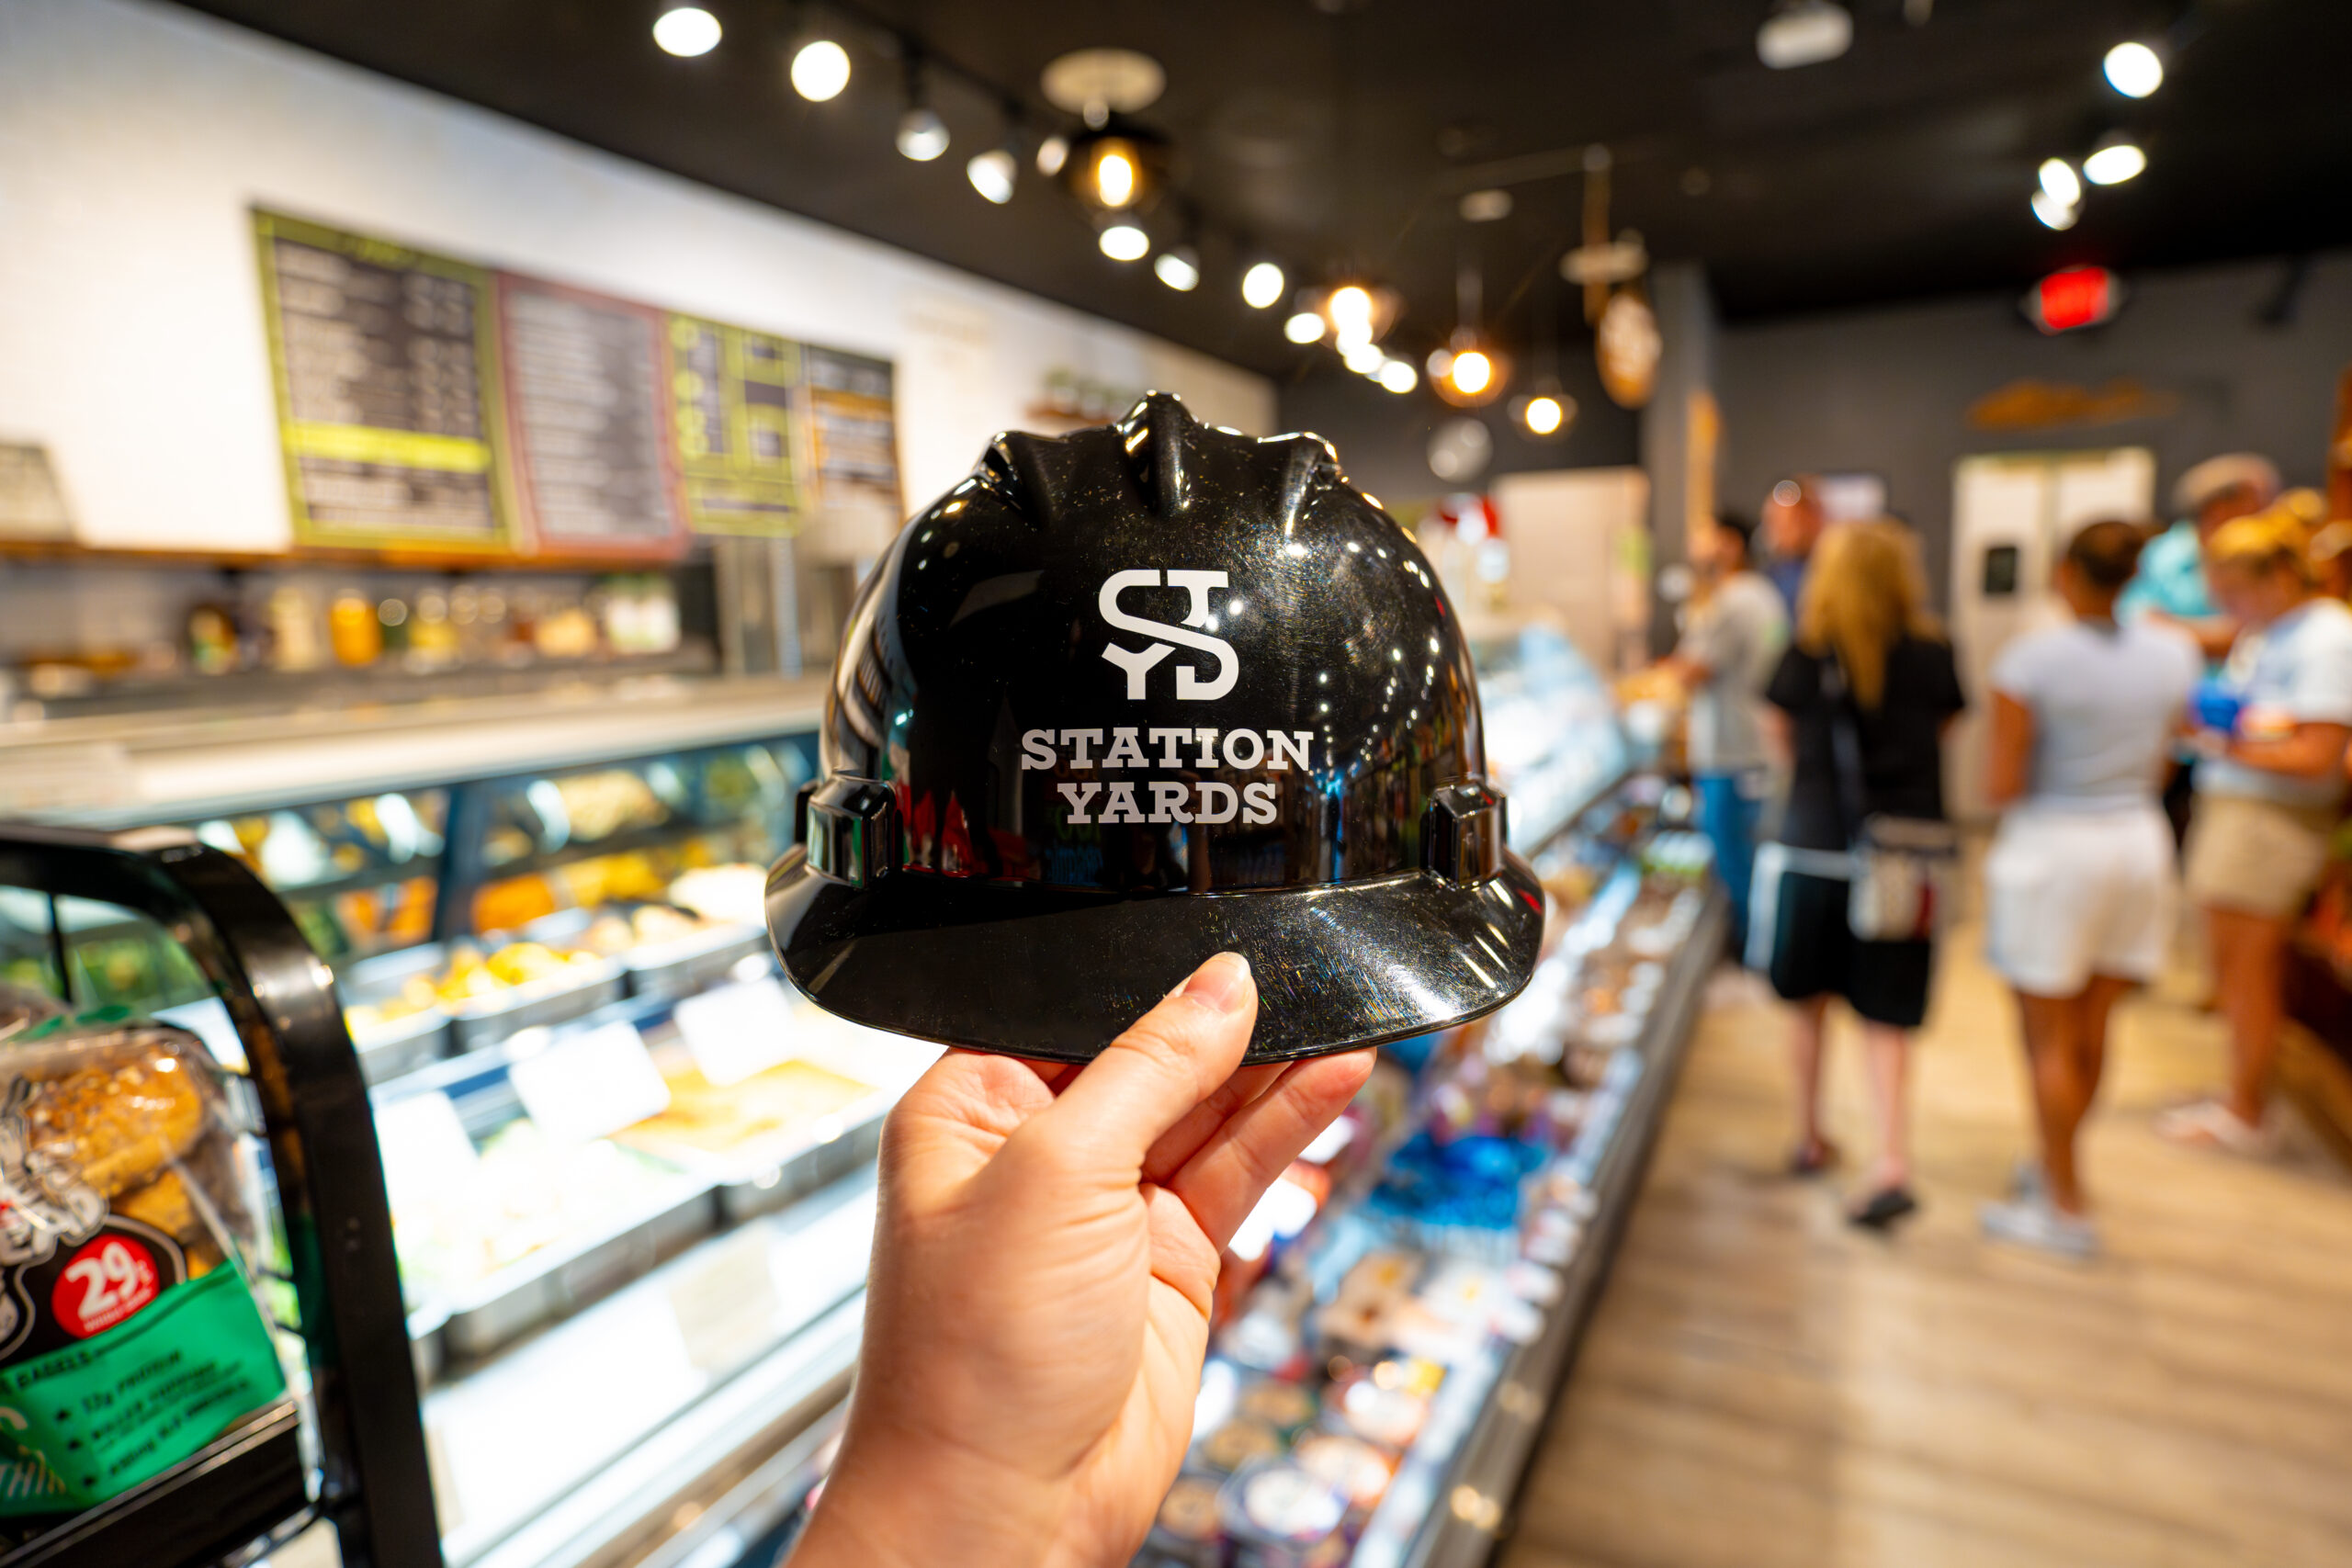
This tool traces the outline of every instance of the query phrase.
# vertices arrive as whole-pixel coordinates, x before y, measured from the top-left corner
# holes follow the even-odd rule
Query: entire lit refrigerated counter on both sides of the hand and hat
[[[1566,639],[1494,628],[1477,658],[1510,837],[1555,898],[1550,952],[1496,1018],[1385,1051],[1352,1143],[1254,1215],[1202,1396],[1209,1443],[1232,1425],[1221,1396],[1268,1396],[1254,1335],[1291,1312],[1277,1333],[1312,1342],[1374,1251],[1411,1260],[1402,1300],[1510,1284],[1519,1305],[1456,1335],[1378,1505],[1348,1514],[1367,1563],[1486,1540],[1470,1497],[1508,1497],[1672,1079],[1696,954],[1719,940],[1703,851],[1625,780],[1606,691]],[[0,762],[0,804],[47,792],[52,818],[169,825],[254,867],[334,966],[452,1568],[767,1568],[823,1467],[880,1117],[936,1051],[800,1004],[757,929],[821,698],[708,682],[52,729],[49,757]],[[82,804],[59,804],[92,759],[111,785],[92,795],[85,771]],[[45,914],[0,903],[0,964],[240,1051],[169,943],[68,900]],[[779,1044],[729,1053],[743,1039]],[[1428,1208],[1494,1159],[1517,1164],[1508,1192],[1472,1194],[1477,1222]],[[1289,1385],[1322,1410],[1315,1378]]]

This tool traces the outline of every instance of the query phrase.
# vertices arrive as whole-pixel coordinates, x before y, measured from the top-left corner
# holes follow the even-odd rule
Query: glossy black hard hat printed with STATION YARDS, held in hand
[[[884,552],[767,924],[826,1011],[957,1046],[1087,1060],[1221,950],[1249,1060],[1425,1034],[1543,936],[1484,762],[1411,534],[1155,393],[997,437]]]

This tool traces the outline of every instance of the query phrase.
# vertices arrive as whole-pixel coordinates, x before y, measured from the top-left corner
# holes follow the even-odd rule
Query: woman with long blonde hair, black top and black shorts
[[[1905,1084],[1926,1018],[1933,943],[1860,940],[1849,924],[1853,844],[1872,818],[1943,820],[1943,733],[1966,705],[1952,644],[1926,609],[1919,548],[1896,522],[1823,534],[1797,639],[1764,698],[1790,755],[1788,811],[1757,853],[1750,966],[1792,1004],[1797,1147],[1790,1171],[1828,1168],[1820,1048],[1832,997],[1863,1020],[1879,1147],[1846,1218],[1884,1229],[1912,1213]]]

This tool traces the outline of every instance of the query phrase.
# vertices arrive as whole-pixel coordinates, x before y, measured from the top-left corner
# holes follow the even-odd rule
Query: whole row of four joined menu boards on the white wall
[[[866,559],[901,520],[891,367],[254,212],[294,534]]]

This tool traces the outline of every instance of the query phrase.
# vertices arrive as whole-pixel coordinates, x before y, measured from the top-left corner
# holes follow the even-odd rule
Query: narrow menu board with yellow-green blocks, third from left
[[[797,386],[797,343],[691,315],[670,317],[677,463],[696,534],[800,531]]]

